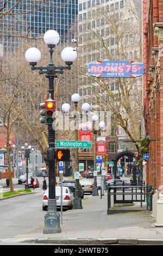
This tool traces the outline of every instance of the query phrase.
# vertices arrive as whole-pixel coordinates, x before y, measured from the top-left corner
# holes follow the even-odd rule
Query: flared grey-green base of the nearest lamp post
[[[48,211],[45,215],[43,234],[61,233],[60,214],[57,212],[56,199],[48,199]]]

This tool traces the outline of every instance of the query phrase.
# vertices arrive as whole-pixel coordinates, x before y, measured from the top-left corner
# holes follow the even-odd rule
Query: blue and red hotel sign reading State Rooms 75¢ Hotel
[[[134,61],[97,61],[89,63],[88,74],[96,77],[135,78],[145,74],[145,66]]]

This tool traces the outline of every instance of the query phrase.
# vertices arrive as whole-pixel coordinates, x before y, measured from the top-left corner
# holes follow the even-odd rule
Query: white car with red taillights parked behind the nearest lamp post
[[[64,209],[72,209],[73,208],[73,193],[70,188],[63,187],[63,196],[62,196],[62,205]],[[46,210],[48,207],[48,196],[49,190],[47,189],[43,194],[42,198],[42,210]],[[57,199],[57,208],[61,208],[61,187],[55,187],[55,198]]]

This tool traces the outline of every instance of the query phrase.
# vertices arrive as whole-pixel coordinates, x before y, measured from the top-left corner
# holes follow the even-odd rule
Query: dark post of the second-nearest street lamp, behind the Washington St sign
[[[76,106],[76,131],[75,131],[75,137],[76,141],[78,141],[78,115],[77,115],[77,106],[78,103],[74,102]],[[79,151],[78,148],[75,149],[75,155],[76,155],[76,172],[79,172]],[[79,179],[76,179],[76,190],[75,190],[75,197],[73,200],[73,209],[83,209],[82,206],[82,199],[80,197],[80,190],[79,190]]]

